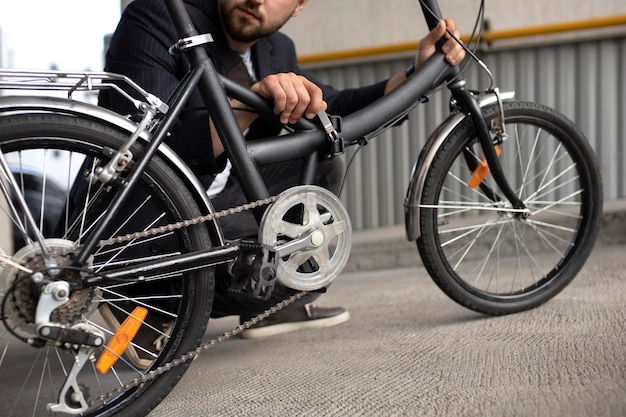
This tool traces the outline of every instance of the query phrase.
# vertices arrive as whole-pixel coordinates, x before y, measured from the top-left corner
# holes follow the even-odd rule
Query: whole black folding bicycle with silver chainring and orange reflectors
[[[460,68],[436,53],[355,113],[320,111],[280,125],[273,103],[216,72],[204,48],[211,35],[198,34],[183,0],[163,1],[179,32],[171,51],[191,63],[166,102],[120,74],[0,70],[0,89],[24,77],[30,81],[12,88],[70,92],[67,99],[0,97],[0,193],[8,203],[1,220],[13,226],[0,249],[7,358],[0,362],[10,364],[1,368],[3,381],[24,378],[2,397],[11,410],[36,396],[31,414],[43,414],[46,404],[75,415],[148,413],[199,352],[245,335],[297,300],[310,302],[303,297],[328,287],[351,249],[349,213],[315,185],[321,161],[395,126],[443,86],[452,95],[450,114],[422,148],[404,201],[407,238],[434,283],[463,307],[511,314],[550,300],[584,265],[602,211],[599,163],[585,135],[556,109],[512,101],[514,93],[497,88],[470,91]],[[432,28],[437,2],[421,4]],[[49,88],[39,88],[41,80]],[[139,112],[125,117],[71,96],[102,88],[117,89]],[[208,112],[200,122],[215,124],[249,202],[220,213],[165,144],[189,103],[197,107],[197,92]],[[247,142],[234,114],[241,109],[229,98],[287,133]],[[265,166],[296,160],[297,185],[264,183]],[[41,179],[41,187],[27,179]],[[227,241],[218,218],[249,209],[257,236]],[[212,317],[262,309],[199,346]],[[105,346],[107,338],[116,343]],[[115,368],[109,353],[121,360]]]

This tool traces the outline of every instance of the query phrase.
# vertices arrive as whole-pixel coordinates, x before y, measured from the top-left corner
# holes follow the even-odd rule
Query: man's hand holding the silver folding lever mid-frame
[[[315,117],[320,106],[326,109],[322,90],[293,72],[268,75],[252,86],[252,91],[274,102],[274,113],[281,123],[296,123],[302,116]]]

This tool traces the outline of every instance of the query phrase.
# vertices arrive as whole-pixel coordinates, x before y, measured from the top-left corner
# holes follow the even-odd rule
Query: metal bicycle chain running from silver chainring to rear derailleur
[[[275,202],[278,199],[278,196],[272,196],[272,197],[268,197],[268,198],[264,198],[261,200],[257,200],[257,201],[253,201],[250,203],[246,203],[243,204],[241,206],[237,206],[237,207],[233,207],[233,208],[229,208],[229,209],[225,209],[219,212],[215,212],[215,213],[210,213],[204,216],[199,216],[196,217],[194,219],[190,219],[190,220],[184,220],[181,222],[177,222],[177,223],[172,223],[172,224],[168,224],[165,226],[159,226],[159,227],[155,227],[152,229],[148,229],[145,230],[143,232],[136,232],[136,233],[129,233],[127,235],[123,235],[123,236],[117,236],[111,239],[105,239],[105,240],[101,240],[100,242],[98,242],[98,246],[102,247],[102,246],[107,246],[107,245],[112,245],[112,244],[119,244],[119,243],[124,243],[124,242],[130,242],[132,240],[135,239],[140,239],[140,238],[147,238],[150,236],[154,236],[160,233],[165,233],[165,232],[171,232],[174,230],[179,230],[182,229],[183,227],[189,227],[189,226],[193,226],[196,224],[200,224],[200,223],[205,223],[208,221],[212,221],[221,217],[226,217],[229,216],[231,214],[236,214],[236,213],[241,213],[243,211],[247,211],[247,210],[251,210],[257,207],[261,207],[267,204],[271,204],[273,202]],[[133,379],[132,381],[117,387],[115,390],[107,393],[107,394],[103,394],[98,396],[97,398],[91,400],[89,402],[89,406],[90,407],[95,407],[99,404],[105,404],[108,400],[110,400],[111,398],[121,394],[122,392],[128,391],[132,388],[138,387],[141,384],[145,384],[151,380],[153,380],[154,378],[158,377],[159,375],[164,374],[165,372],[168,372],[170,370],[172,370],[173,368],[180,366],[186,362],[188,362],[189,360],[195,359],[196,357],[198,357],[200,355],[200,353],[202,352],[206,352],[207,350],[209,350],[210,348],[212,348],[213,346],[216,346],[217,344],[230,339],[233,336],[237,336],[238,334],[240,334],[241,332],[243,332],[244,330],[256,325],[257,323],[259,323],[260,321],[266,319],[267,317],[269,317],[270,315],[276,313],[277,311],[282,310],[283,308],[289,306],[290,304],[294,303],[295,301],[299,300],[300,298],[302,298],[303,296],[305,296],[308,293],[308,291],[301,291],[299,293],[296,293],[294,295],[292,295],[291,297],[277,303],[276,305],[274,305],[273,307],[269,308],[268,310],[265,310],[264,312],[258,314],[256,317],[251,318],[250,320],[236,326],[233,330],[228,331],[223,333],[222,335],[209,340],[207,343],[204,343],[200,346],[198,346],[196,349],[191,350],[181,356],[179,356],[178,358],[175,358],[173,360],[171,360],[170,362],[167,362],[164,365],[159,366],[158,368],[147,372],[143,375],[141,375],[138,378]]]

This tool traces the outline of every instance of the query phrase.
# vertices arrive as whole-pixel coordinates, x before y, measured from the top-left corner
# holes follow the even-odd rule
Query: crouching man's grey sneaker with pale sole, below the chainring
[[[240,316],[243,324],[255,316]],[[305,329],[336,326],[350,320],[350,313],[342,307],[318,307],[307,304],[289,310],[280,310],[241,333],[244,339],[261,339]]]

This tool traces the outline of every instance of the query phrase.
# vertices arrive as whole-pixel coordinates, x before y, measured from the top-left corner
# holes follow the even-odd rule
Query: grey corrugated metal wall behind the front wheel
[[[501,91],[560,110],[587,135],[600,161],[605,199],[626,197],[626,37],[481,52]],[[336,88],[358,87],[391,76],[409,59],[390,59],[309,69]],[[484,89],[477,65],[466,72],[468,87]],[[409,175],[430,132],[448,114],[449,92],[418,106],[401,126],[374,139],[354,159],[342,200],[354,229],[404,222]],[[354,149],[346,152],[349,160]]]

